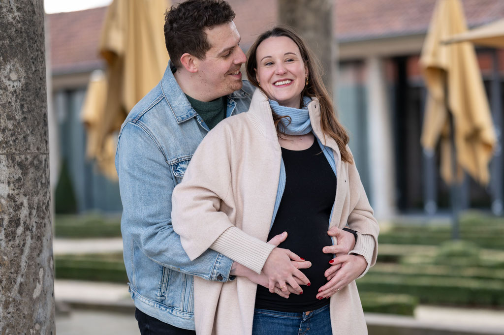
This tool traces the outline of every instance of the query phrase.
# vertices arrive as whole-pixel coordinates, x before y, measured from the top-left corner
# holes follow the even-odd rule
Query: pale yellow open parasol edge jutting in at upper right
[[[504,48],[504,19],[451,36],[445,43],[464,41],[495,48]]]

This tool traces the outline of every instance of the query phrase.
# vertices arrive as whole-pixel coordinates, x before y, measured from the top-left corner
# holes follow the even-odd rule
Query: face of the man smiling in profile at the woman
[[[197,59],[198,75],[202,89],[217,99],[241,88],[240,66],[245,54],[238,46],[240,34],[234,22],[207,28],[205,33],[211,47],[205,59]]]

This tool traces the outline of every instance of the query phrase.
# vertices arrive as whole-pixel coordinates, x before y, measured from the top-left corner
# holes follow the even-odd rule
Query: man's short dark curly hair
[[[180,57],[190,53],[205,59],[211,45],[207,41],[206,28],[229,23],[235,14],[223,0],[187,0],[172,6],[165,14],[164,39],[170,59],[180,68]]]

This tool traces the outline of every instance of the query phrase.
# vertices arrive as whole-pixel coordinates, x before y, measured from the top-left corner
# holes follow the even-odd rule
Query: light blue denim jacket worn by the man
[[[163,78],[121,126],[115,167],[122,200],[124,265],[135,306],[163,322],[195,329],[193,276],[226,282],[233,261],[207,250],[191,261],[171,225],[171,193],[209,128],[178,86]],[[248,110],[254,87],[228,95],[227,116]]]

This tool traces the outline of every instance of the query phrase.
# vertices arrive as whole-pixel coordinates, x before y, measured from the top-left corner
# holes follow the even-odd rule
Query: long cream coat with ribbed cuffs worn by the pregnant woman
[[[376,261],[379,228],[355,165],[342,162],[336,142],[324,137],[319,110],[317,99],[309,103],[313,132],[333,149],[338,178],[330,226],[348,223],[360,233],[353,252],[364,255],[369,267]],[[261,271],[273,248],[265,241],[280,162],[270,105],[256,90],[248,112],[224,119],[208,133],[173,191],[173,229],[191,259],[212,248]],[[227,283],[195,277],[194,286],[198,335],[251,334],[256,284],[243,277]],[[331,297],[330,311],[333,335],[367,334],[355,281]]]

